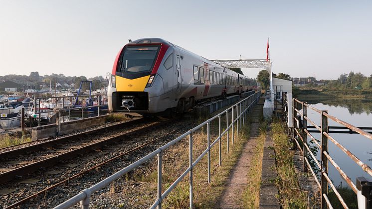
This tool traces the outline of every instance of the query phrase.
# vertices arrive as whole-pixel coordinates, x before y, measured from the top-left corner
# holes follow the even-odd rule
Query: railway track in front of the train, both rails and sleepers
[[[121,123],[119,125],[114,125],[114,127],[110,127],[109,129],[117,129],[123,126],[129,126],[133,128],[135,125],[141,124],[143,122],[143,119],[138,119]],[[0,173],[0,183],[5,183],[16,177],[25,176],[29,173],[39,170],[40,168],[44,169],[53,166],[54,164],[57,164],[61,161],[69,160],[77,155],[82,155],[92,150],[97,150],[103,146],[110,145],[112,143],[118,143],[120,140],[126,137],[131,137],[138,132],[156,128],[163,123],[164,122],[153,122],[150,123],[150,125],[141,128],[135,128],[134,130],[121,131],[121,133],[119,134],[114,133],[114,136],[106,136],[104,138],[98,139],[97,137],[94,137],[95,139],[93,140],[90,139],[89,135],[87,134],[92,134],[96,133],[97,131],[103,130],[91,130],[72,136],[62,137],[59,139],[22,147],[20,149],[2,152],[0,153],[0,159],[5,159],[2,160],[2,164],[6,165],[2,165],[2,169],[6,170],[7,168],[9,168],[9,170]],[[105,128],[104,134],[110,135],[109,133],[107,133],[107,130],[109,129]],[[85,138],[85,140],[79,140],[82,136]],[[28,160],[30,153],[32,153],[32,160]],[[37,153],[39,157],[35,157],[35,153]]]

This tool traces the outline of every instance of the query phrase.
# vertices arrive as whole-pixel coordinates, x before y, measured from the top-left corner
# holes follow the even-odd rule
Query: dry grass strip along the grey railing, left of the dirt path
[[[221,117],[221,132],[226,128],[226,116]],[[229,115],[231,121],[231,114]],[[231,134],[229,132],[229,153],[227,153],[226,136],[222,137],[221,141],[221,159],[222,165],[219,166],[219,144],[218,142],[210,149],[210,173],[211,182],[207,182],[207,155],[205,155],[196,166],[193,168],[193,204],[194,208],[215,208],[219,197],[221,196],[225,182],[230,175],[231,169],[238,160],[242,148],[249,137],[249,122],[245,121],[245,126],[241,129],[239,127],[239,136],[236,136],[234,143],[232,143]],[[206,149],[207,147],[207,131],[206,126],[199,131],[193,133],[193,161]],[[210,123],[210,143],[212,143],[218,136],[218,119]],[[171,146],[164,151],[163,154],[163,192],[166,191],[171,184],[187,169],[188,156],[188,137],[181,142]],[[156,167],[156,161],[153,167]],[[146,187],[142,194],[156,193],[157,185],[157,171],[151,170],[142,176],[133,175],[134,182]],[[127,190],[127,193],[130,191]],[[150,195],[152,196],[152,195]],[[143,198],[143,197],[141,197]],[[154,200],[150,198],[150,200]],[[138,206],[138,205],[137,205]],[[132,207],[136,207],[133,206]],[[140,206],[138,206],[140,207]],[[167,196],[162,202],[163,208],[188,208],[189,207],[189,181],[188,175],[185,176],[176,188]]]

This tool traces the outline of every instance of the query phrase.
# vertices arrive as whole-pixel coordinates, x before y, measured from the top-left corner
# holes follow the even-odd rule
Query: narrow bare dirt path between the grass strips
[[[244,145],[242,154],[232,169],[230,178],[227,181],[226,187],[216,208],[220,209],[236,209],[242,208],[241,198],[244,189],[247,187],[248,171],[251,165],[251,160],[254,153],[254,147],[257,143],[259,135],[259,115],[262,111],[262,106],[258,105],[253,110],[253,118],[251,122],[251,133],[248,141]]]

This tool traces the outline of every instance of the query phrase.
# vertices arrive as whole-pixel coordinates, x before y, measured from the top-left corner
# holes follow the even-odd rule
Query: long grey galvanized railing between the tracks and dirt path
[[[161,209],[162,207],[162,201],[169,195],[169,193],[172,192],[173,189],[180,183],[185,176],[188,174],[188,179],[189,179],[189,207],[192,209],[193,208],[193,168],[196,166],[196,164],[205,156],[207,155],[207,164],[208,164],[208,174],[207,174],[207,179],[208,179],[208,184],[210,183],[210,149],[215,145],[219,144],[219,165],[222,163],[222,158],[221,158],[221,138],[223,135],[226,134],[226,141],[227,141],[227,151],[229,151],[229,130],[232,129],[232,143],[234,142],[234,131],[236,127],[237,133],[239,133],[239,127],[240,130],[242,129],[242,126],[244,126],[244,123],[247,119],[247,114],[248,112],[252,111],[253,107],[258,103],[260,98],[260,93],[257,92],[254,95],[251,95],[240,102],[233,104],[231,107],[225,109],[221,113],[211,117],[210,119],[204,121],[203,123],[197,125],[196,127],[188,130],[186,133],[183,135],[177,137],[176,139],[172,140],[171,142],[167,143],[166,145],[158,148],[154,152],[146,155],[145,157],[141,158],[140,160],[132,163],[131,165],[125,167],[124,169],[116,172],[115,174],[111,175],[110,177],[102,180],[101,182],[91,186],[90,188],[84,189],[81,191],[78,195],[70,198],[69,200],[65,201],[64,203],[58,205],[55,207],[55,209],[67,209],[75,204],[80,202],[81,208],[82,209],[88,209],[89,208],[89,203],[90,203],[90,197],[94,192],[97,192],[101,190],[102,188],[108,186],[111,182],[119,179],[126,173],[132,171],[133,169],[137,168],[141,164],[145,163],[146,161],[151,160],[153,157],[157,156],[158,157],[158,178],[157,178],[157,200],[154,202],[154,204],[151,206],[152,209],[158,208]],[[232,115],[232,120],[231,123],[229,123],[228,115],[229,111],[231,110],[231,115]],[[235,114],[236,113],[236,114]],[[221,117],[226,114],[226,129],[221,132]],[[235,118],[234,118],[235,117]],[[218,119],[218,137],[212,142],[210,140],[210,123],[211,121]],[[202,128],[203,126],[207,126],[207,145],[206,149],[202,152],[202,154],[196,158],[196,160],[193,160],[192,158],[192,134]],[[189,165],[188,168],[178,177],[178,179],[172,183],[172,185],[163,192],[162,189],[162,173],[163,173],[163,152],[167,150],[170,146],[180,142],[182,139],[186,138],[188,136],[188,155],[189,155]]]

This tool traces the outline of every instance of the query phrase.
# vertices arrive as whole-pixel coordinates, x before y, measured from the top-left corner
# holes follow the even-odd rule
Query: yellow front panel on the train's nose
[[[120,76],[115,76],[116,91],[118,92],[143,92],[150,76],[145,76],[137,79],[126,79]]]

